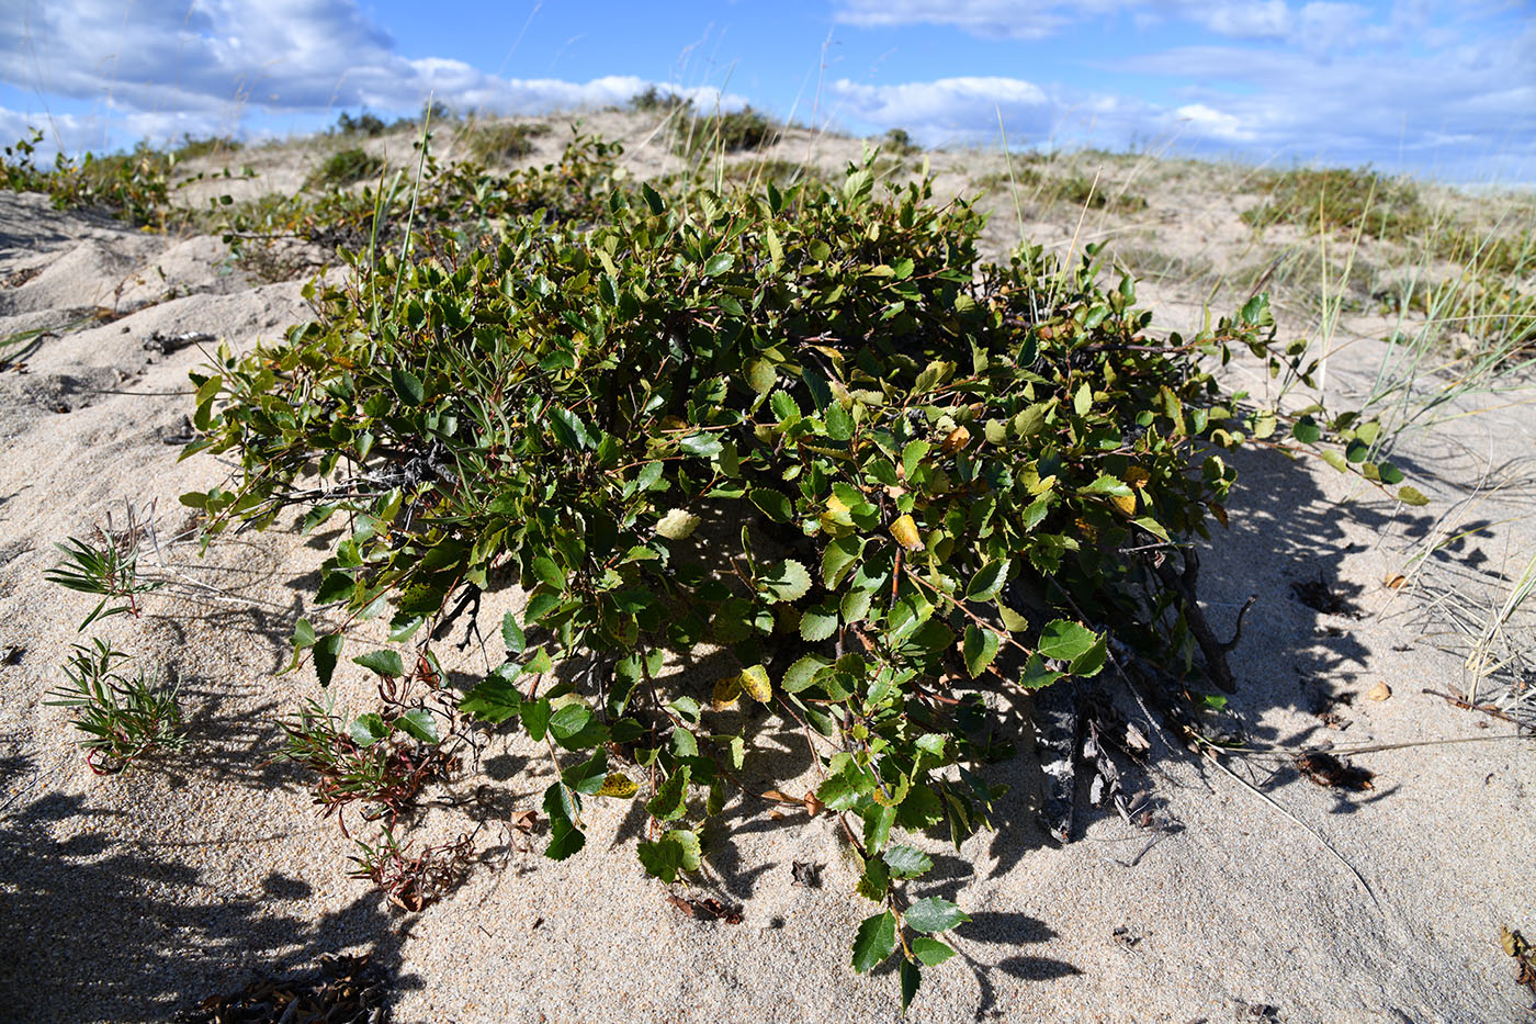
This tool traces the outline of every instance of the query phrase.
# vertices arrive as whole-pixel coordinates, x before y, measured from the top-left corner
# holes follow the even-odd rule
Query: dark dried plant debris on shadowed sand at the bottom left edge
[[[300,978],[260,978],[240,992],[203,999],[178,1024],[382,1024],[389,1019],[384,973],[369,955],[321,956]]]

